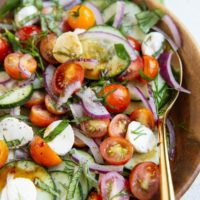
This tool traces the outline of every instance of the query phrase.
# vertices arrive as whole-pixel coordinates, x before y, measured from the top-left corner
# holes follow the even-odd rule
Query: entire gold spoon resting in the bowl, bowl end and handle
[[[179,84],[182,84],[183,79],[183,66],[182,61],[177,52],[173,53],[172,58],[172,66],[173,68],[179,72],[180,79]],[[175,68],[176,67],[176,68]],[[160,146],[160,170],[161,170],[161,178],[160,178],[160,189],[161,189],[161,200],[175,200],[174,188],[172,183],[172,176],[170,170],[169,156],[168,156],[168,146],[167,146],[167,134],[166,134],[166,119],[167,116],[176,102],[179,96],[179,92],[172,96],[169,102],[164,106],[164,112],[159,116],[158,123],[158,136],[159,136],[159,146]]]

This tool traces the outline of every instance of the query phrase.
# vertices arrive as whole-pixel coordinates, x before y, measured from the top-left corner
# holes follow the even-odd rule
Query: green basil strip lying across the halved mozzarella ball
[[[47,136],[44,138],[45,142],[52,141],[57,135],[59,135],[65,128],[69,125],[67,120],[62,120],[58,126]]]

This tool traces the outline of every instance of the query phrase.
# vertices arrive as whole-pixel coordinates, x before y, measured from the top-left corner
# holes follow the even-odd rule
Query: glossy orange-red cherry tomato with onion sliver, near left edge
[[[29,54],[11,53],[6,56],[4,60],[4,68],[13,79],[20,80],[29,78],[29,76],[22,73],[20,67],[31,75],[36,72],[37,62]]]

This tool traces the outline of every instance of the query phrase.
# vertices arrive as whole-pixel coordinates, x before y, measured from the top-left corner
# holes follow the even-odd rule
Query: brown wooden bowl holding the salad
[[[140,0],[134,2],[136,1],[140,2]],[[150,9],[160,8],[173,18],[183,41],[182,48],[179,51],[184,65],[183,85],[192,94],[181,94],[171,112],[175,124],[184,124],[183,128],[176,128],[177,153],[175,161],[171,163],[176,199],[180,199],[200,172],[200,84],[198,84],[200,48],[188,30],[170,11],[155,0],[144,1]],[[1,0],[0,6],[3,2],[5,0]],[[170,35],[167,27],[164,24],[161,24],[161,26]]]

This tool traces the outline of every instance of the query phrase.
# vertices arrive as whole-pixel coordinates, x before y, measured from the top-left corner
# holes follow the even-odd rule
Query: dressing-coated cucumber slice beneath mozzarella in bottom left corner
[[[48,172],[41,166],[35,164],[31,161],[14,161],[5,165],[0,169],[0,193],[3,187],[6,185],[7,175],[11,173],[14,178],[21,177],[27,178],[35,183],[35,179],[39,179],[42,183],[55,190],[54,182]],[[36,185],[37,189],[37,200],[55,200],[55,195],[49,193],[48,191],[40,189]],[[0,194],[1,196],[1,194]]]

